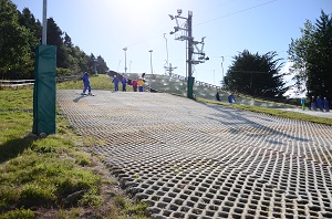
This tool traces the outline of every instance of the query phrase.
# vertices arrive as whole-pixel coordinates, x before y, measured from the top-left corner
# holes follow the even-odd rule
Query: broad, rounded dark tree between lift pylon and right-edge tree
[[[280,74],[280,59],[274,60],[276,56],[276,52],[239,53],[225,76],[226,88],[255,96],[282,97],[287,88]]]

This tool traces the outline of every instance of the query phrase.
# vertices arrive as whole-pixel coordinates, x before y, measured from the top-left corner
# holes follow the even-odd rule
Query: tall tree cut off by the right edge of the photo
[[[321,11],[320,20],[309,20],[302,36],[291,40],[289,56],[297,73],[297,84],[305,84],[308,95],[332,98],[332,19]]]

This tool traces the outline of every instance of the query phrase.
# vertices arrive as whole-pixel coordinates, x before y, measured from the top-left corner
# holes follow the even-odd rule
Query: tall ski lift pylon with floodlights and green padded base
[[[205,38],[201,38],[200,42],[194,41],[194,38],[193,38],[193,11],[188,11],[188,18],[180,17],[181,12],[183,12],[183,10],[178,9],[177,15],[168,14],[172,20],[174,20],[174,19],[176,20],[176,24],[177,24],[177,27],[174,27],[174,31],[172,31],[170,34],[174,34],[179,30],[185,32],[185,34],[176,38],[176,40],[180,40],[180,41],[186,40],[187,44],[188,44],[187,54],[186,54],[187,55],[186,65],[187,65],[187,75],[188,75],[187,96],[188,96],[188,98],[195,98],[194,91],[193,91],[194,82],[195,82],[195,77],[193,76],[193,64],[204,63],[206,60],[209,60],[209,58],[205,58],[205,53],[203,52]],[[184,19],[186,21],[186,23],[184,25],[185,28],[179,25],[178,19]],[[198,49],[197,44],[201,44],[201,49]],[[195,45],[195,49],[197,50],[197,52],[194,51],[194,45]],[[198,60],[193,60],[193,54],[199,55]]]

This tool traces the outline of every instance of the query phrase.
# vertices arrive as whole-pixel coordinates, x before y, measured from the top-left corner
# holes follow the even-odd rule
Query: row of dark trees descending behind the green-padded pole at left
[[[42,41],[42,23],[28,8],[22,12],[11,0],[0,0],[0,79],[33,79],[35,46]],[[104,73],[104,59],[87,55],[53,18],[48,19],[46,44],[56,45],[56,75]]]

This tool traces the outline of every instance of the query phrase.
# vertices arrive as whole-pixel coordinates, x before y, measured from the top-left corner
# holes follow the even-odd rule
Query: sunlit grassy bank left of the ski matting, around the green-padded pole
[[[0,91],[0,218],[145,218],[61,112],[56,134],[31,134],[32,93]]]

